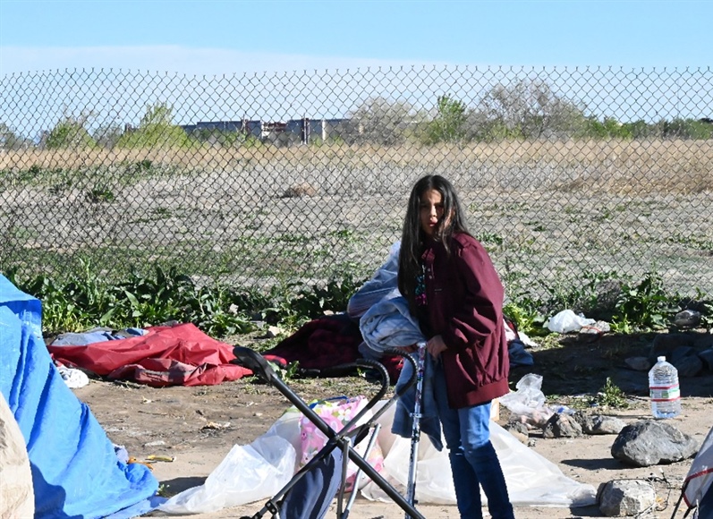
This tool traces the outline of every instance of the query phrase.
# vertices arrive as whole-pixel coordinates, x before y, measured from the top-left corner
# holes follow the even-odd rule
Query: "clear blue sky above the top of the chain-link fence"
[[[708,67],[713,1],[0,0],[0,76],[380,65]]]

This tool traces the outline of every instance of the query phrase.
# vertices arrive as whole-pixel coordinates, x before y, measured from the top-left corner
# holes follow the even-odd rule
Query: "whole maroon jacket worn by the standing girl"
[[[428,307],[420,320],[427,336],[440,334],[446,343],[441,359],[449,404],[457,409],[505,395],[510,361],[504,289],[488,252],[472,236],[455,234],[450,257],[433,242],[421,259]]]

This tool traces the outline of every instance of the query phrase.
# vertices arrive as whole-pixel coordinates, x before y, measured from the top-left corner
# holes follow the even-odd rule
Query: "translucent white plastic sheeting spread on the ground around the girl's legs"
[[[377,410],[378,406],[374,411]],[[168,514],[199,514],[271,498],[298,468],[299,418],[300,413],[296,411],[285,413],[250,446],[233,447],[204,485],[184,490],[159,510]],[[411,440],[390,432],[393,420],[393,406],[378,419],[381,423],[378,445],[385,455],[381,473],[396,489],[403,491],[409,471]],[[567,478],[556,464],[522,445],[495,421],[491,422],[491,440],[514,506],[575,507],[596,503],[596,490],[591,485]],[[241,482],[239,490],[235,489],[235,481]],[[389,499],[373,482],[366,484],[361,494],[372,500]],[[420,442],[416,498],[422,504],[455,504],[446,450],[437,451],[428,439]]]

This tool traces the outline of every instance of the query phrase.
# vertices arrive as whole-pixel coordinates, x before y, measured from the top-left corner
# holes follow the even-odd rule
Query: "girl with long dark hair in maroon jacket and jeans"
[[[398,286],[438,361],[434,393],[458,511],[463,519],[481,519],[482,487],[490,515],[514,519],[489,430],[491,400],[509,391],[503,285],[442,176],[425,176],[413,186]]]

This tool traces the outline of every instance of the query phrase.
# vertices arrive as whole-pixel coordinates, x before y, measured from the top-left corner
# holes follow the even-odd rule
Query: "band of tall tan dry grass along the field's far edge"
[[[532,174],[503,177],[509,185],[501,187],[528,186],[541,190],[553,185],[570,190],[595,187],[617,195],[685,194],[713,188],[713,142],[710,140],[505,140],[430,147],[324,144],[280,148],[265,144],[250,147],[206,144],[190,148],[22,149],[0,150],[0,171],[21,171],[31,166],[45,170],[86,170],[146,160],[186,171],[222,173],[249,169],[247,166],[274,172],[285,167],[290,169],[290,166],[330,167],[337,171],[371,168],[377,173],[386,167],[420,170],[426,166],[448,170],[468,166],[475,173],[485,166],[511,173],[532,170]],[[559,174],[547,175],[548,171]],[[304,182],[316,180],[310,178],[309,171],[302,173]],[[286,186],[273,187],[284,189]]]

